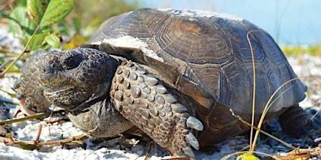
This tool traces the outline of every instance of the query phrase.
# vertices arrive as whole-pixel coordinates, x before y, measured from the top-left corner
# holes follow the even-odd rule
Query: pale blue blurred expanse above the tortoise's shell
[[[214,10],[243,17],[269,32],[281,45],[316,45],[321,42],[320,0],[138,1],[149,8]]]

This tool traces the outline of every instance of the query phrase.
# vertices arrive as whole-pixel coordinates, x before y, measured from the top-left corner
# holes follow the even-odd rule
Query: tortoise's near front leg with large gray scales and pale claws
[[[193,131],[202,131],[202,122],[142,65],[122,63],[114,75],[110,97],[115,109],[158,145],[177,156],[195,157],[191,146],[198,150],[199,143]]]

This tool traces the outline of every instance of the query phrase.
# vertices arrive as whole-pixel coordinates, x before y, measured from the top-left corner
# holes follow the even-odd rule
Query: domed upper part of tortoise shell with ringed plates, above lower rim
[[[163,58],[165,65],[177,70],[179,75],[173,77],[188,79],[186,83],[173,83],[182,93],[195,85],[220,104],[248,114],[252,111],[253,65],[247,34],[255,59],[256,113],[262,113],[274,91],[297,75],[273,38],[244,19],[142,8],[108,19],[89,43],[124,35],[139,38]],[[304,99],[305,91],[301,81],[291,81],[278,91],[269,111],[297,104]],[[190,95],[193,97],[193,93]]]

